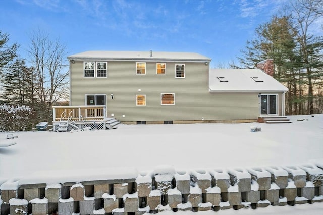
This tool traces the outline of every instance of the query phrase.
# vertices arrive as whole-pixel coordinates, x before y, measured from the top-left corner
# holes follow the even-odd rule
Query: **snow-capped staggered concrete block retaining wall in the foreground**
[[[323,165],[176,171],[137,178],[0,186],[4,214],[144,214],[240,209],[323,201]]]

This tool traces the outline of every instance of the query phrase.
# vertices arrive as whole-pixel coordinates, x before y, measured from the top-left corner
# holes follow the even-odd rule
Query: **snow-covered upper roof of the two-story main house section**
[[[151,53],[151,56],[150,56]],[[71,55],[69,60],[119,60],[119,61],[203,61],[211,59],[193,52],[160,52],[160,51],[85,51]]]

